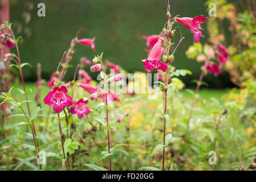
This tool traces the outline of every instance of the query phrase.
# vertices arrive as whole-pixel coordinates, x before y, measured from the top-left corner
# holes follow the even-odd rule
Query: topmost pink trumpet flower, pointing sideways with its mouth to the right
[[[188,28],[190,32],[194,35],[194,42],[200,42],[200,37],[204,38],[200,30],[204,30],[201,26],[207,18],[203,15],[196,16],[195,18],[176,18],[177,22],[182,26]],[[199,30],[198,30],[199,29]]]

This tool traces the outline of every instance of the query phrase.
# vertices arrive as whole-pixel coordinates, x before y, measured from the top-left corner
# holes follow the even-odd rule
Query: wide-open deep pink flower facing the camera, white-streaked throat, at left
[[[54,111],[60,113],[64,106],[69,107],[73,104],[72,97],[68,96],[67,88],[65,86],[55,87],[51,92],[44,97],[44,104],[49,106],[54,105]]]

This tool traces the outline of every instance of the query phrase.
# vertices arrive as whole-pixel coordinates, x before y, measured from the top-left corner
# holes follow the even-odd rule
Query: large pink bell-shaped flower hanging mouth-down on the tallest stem
[[[149,53],[149,56],[147,59],[141,60],[143,61],[143,65],[147,69],[160,69],[161,71],[165,72],[167,69],[167,66],[160,61],[162,56],[162,42],[164,39],[159,39],[159,41],[155,44],[155,46],[152,48],[151,52]]]

